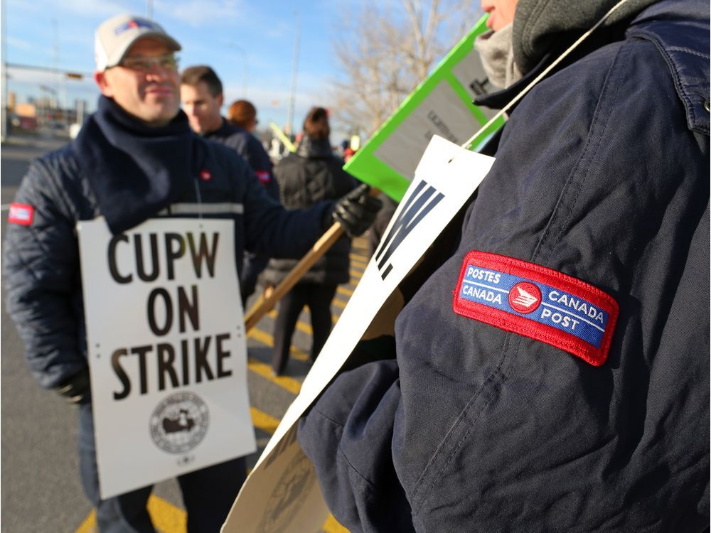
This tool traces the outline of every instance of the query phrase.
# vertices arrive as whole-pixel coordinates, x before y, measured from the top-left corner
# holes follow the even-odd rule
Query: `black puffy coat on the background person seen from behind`
[[[355,181],[343,171],[343,161],[333,155],[328,139],[312,141],[304,136],[295,154],[289,154],[274,168],[282,203],[287,209],[306,209],[321,200],[338,200],[355,188]],[[337,285],[348,283],[351,239],[343,235],[311,266],[300,282]],[[272,259],[263,281],[278,285],[298,261]]]

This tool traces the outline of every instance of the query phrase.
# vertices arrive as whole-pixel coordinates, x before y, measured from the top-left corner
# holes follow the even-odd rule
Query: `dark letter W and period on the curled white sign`
[[[395,252],[400,243],[415,229],[415,226],[422,221],[427,214],[432,211],[435,205],[442,201],[444,195],[437,189],[421,181],[412,191],[405,205],[400,211],[397,220],[390,227],[390,231],[383,237],[378,250],[375,252],[375,260],[378,262],[380,277],[385,279],[392,270],[392,263],[387,264],[392,253]],[[387,265],[386,265],[387,264]]]

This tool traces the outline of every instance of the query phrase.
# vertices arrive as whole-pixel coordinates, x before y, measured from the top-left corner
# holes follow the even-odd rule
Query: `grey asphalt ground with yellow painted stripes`
[[[1,198],[3,208],[14,198],[32,158],[60,146],[57,141],[3,144],[1,149]],[[7,212],[1,214],[4,242]],[[365,239],[355,239],[351,260],[351,284],[341,286],[334,301],[334,316],[341,313],[367,262]],[[4,291],[4,279],[1,289]],[[254,299],[250,304],[254,303]],[[249,308],[249,305],[248,305]],[[285,377],[270,375],[271,332],[274,312],[262,318],[250,332],[248,387],[257,453],[248,458],[251,467],[269,440],[279,419],[298,393],[310,364],[308,312],[297,325],[292,359]],[[0,357],[0,530],[8,533],[55,533],[91,530],[92,505],[80,483],[76,453],[76,421],[73,407],[36,384],[23,358],[23,345],[2,304]],[[175,480],[156,485],[149,509],[163,532],[184,531],[183,504]],[[324,528],[342,530],[335,522]]]

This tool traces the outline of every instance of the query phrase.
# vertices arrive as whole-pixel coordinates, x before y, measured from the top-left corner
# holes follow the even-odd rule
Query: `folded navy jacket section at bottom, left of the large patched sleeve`
[[[414,530],[390,451],[399,402],[397,363],[372,362],[338,377],[299,424],[328,508],[351,533]]]

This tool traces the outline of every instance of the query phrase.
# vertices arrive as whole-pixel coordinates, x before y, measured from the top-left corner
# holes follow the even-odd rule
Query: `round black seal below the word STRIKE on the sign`
[[[210,413],[203,399],[192,392],[177,392],[163,399],[151,414],[151,438],[169,453],[186,453],[203,440]]]

